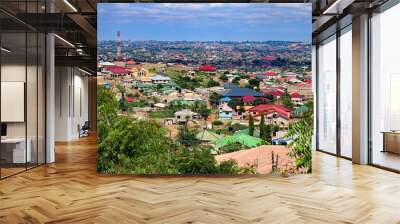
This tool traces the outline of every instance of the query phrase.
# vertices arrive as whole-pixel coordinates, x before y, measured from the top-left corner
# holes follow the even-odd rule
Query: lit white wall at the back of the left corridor
[[[77,139],[78,125],[88,120],[88,78],[72,67],[56,67],[55,73],[55,140]]]

